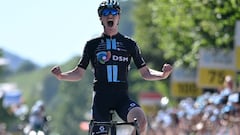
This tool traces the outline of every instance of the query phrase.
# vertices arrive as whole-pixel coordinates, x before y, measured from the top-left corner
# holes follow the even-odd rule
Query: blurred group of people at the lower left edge
[[[31,110],[24,114],[18,113],[19,109],[15,108],[16,106],[12,111],[15,121],[13,124],[8,125],[8,123],[1,122],[0,119],[0,135],[29,135],[40,131],[44,135],[49,134],[48,122],[51,117],[46,114],[45,104],[42,100],[36,101]]]

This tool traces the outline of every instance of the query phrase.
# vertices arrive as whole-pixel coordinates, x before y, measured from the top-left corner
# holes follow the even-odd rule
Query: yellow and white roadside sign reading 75
[[[202,88],[219,88],[224,77],[235,77],[235,60],[233,50],[200,49],[197,84]]]

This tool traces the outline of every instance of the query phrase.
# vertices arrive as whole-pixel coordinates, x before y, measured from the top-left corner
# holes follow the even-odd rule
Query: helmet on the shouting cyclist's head
[[[114,8],[120,12],[120,4],[117,0],[104,0],[98,7],[98,16],[102,15],[102,11],[105,8]]]

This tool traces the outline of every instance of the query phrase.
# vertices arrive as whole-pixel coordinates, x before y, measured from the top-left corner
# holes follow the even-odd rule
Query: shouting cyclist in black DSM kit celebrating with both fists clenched
[[[124,120],[132,122],[137,118],[141,135],[146,134],[147,120],[141,107],[128,96],[128,71],[131,58],[145,80],[166,79],[172,72],[170,64],[164,64],[162,71],[150,69],[141,56],[137,43],[119,33],[120,5],[118,1],[103,1],[98,7],[98,15],[103,25],[103,33],[86,42],[78,65],[62,72],[54,66],[51,72],[59,80],[81,80],[89,62],[94,73],[93,119],[110,121],[109,110],[116,110]],[[94,128],[94,135],[107,134],[102,127]]]

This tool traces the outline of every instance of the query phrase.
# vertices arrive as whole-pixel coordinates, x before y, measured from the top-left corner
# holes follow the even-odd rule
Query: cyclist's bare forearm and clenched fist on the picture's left
[[[78,81],[82,79],[85,73],[85,69],[81,67],[75,67],[73,70],[62,72],[59,66],[55,66],[51,69],[51,72],[59,80]]]

